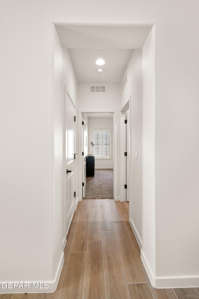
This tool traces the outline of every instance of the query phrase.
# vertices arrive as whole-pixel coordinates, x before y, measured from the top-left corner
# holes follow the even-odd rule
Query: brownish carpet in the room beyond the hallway
[[[113,198],[113,169],[95,169],[95,177],[86,178],[84,198]]]

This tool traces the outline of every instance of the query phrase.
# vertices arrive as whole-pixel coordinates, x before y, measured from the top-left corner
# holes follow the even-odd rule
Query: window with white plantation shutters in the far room
[[[111,130],[94,130],[95,158],[111,159]]]

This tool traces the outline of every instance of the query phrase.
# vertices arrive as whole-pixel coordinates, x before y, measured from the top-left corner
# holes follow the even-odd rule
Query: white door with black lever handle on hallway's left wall
[[[74,124],[74,104],[70,97],[66,96],[65,116],[66,116],[66,226],[67,231],[72,221],[75,211],[74,197],[74,170],[75,170],[75,124]]]

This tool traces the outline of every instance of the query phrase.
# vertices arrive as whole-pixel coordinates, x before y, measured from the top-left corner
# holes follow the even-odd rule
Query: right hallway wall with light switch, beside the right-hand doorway
[[[128,82],[121,92],[121,108],[131,96],[131,165],[129,221],[142,244],[142,50],[133,50],[127,64]],[[122,90],[122,82],[121,82]],[[138,159],[135,153],[138,151]]]

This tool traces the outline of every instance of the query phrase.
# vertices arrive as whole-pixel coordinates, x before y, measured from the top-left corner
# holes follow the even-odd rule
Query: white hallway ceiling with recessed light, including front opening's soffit
[[[152,25],[55,25],[61,45],[68,48],[79,83],[119,83],[132,49],[141,49]],[[103,73],[95,61],[105,60]]]

